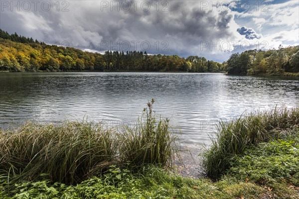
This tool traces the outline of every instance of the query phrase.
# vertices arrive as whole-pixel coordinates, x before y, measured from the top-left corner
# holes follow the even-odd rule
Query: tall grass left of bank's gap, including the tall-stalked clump
[[[59,125],[27,122],[0,131],[0,183],[47,179],[74,185],[104,174],[111,165],[134,169],[168,165],[175,137],[169,120],[154,115],[153,102],[137,125],[124,126],[123,132],[84,120]]]

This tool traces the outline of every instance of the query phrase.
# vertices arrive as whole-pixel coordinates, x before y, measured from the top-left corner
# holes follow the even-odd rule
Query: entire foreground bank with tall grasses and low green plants
[[[204,154],[208,177],[202,179],[167,167],[175,137],[168,120],[153,115],[152,103],[137,126],[121,134],[82,122],[0,133],[4,199],[299,198],[298,108],[221,123]]]

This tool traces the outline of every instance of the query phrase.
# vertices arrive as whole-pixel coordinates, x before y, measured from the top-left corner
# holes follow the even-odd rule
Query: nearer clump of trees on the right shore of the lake
[[[284,75],[299,73],[299,46],[278,50],[249,50],[231,55],[223,63],[228,74],[236,75]]]

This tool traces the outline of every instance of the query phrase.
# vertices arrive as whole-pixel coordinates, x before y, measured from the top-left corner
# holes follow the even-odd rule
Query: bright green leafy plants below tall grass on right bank
[[[252,147],[242,156],[235,156],[227,173],[242,180],[246,178],[255,182],[288,180],[299,186],[298,160],[298,136],[292,140],[278,139]]]

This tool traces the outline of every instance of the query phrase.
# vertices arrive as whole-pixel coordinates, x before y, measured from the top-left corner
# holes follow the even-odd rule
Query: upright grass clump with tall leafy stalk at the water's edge
[[[156,117],[152,111],[154,100],[148,103],[134,128],[126,127],[121,137],[120,155],[122,161],[132,166],[153,164],[167,166],[176,153],[175,135],[169,120]]]

